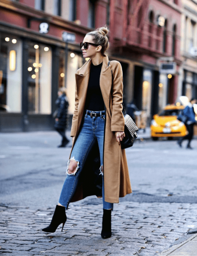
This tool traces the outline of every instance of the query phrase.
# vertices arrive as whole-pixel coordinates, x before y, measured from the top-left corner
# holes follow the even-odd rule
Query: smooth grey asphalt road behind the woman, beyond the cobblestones
[[[69,132],[67,133],[69,136]],[[70,147],[57,148],[56,132],[0,134],[0,202],[54,207],[65,179]],[[133,193],[130,202],[197,203],[197,140],[193,150],[176,140],[144,140],[126,150]],[[100,204],[88,197],[74,204]]]

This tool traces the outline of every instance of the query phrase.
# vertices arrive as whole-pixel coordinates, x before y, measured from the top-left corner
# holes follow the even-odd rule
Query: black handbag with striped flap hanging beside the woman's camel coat
[[[108,62],[108,66],[110,64],[110,61]],[[125,137],[121,141],[121,149],[125,149],[128,147],[132,147],[136,138],[138,137],[137,131],[138,127],[134,123],[134,120],[125,112],[124,104],[123,105],[123,110],[124,110],[124,133]]]

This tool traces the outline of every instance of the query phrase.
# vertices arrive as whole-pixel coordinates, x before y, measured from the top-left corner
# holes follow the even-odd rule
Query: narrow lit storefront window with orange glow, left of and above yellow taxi
[[[142,84],[142,110],[145,110],[147,116],[150,116],[151,108],[151,83],[152,72],[151,70],[144,69],[143,71],[143,84]]]

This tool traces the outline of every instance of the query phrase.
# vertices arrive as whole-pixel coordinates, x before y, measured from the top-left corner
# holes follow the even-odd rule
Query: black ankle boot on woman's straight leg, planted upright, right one
[[[103,223],[102,223],[102,231],[101,231],[102,238],[109,238],[112,236],[111,213],[112,213],[112,210],[103,209]]]

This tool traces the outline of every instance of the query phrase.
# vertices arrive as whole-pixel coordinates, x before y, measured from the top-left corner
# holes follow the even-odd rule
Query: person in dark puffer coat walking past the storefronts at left
[[[55,130],[62,136],[62,143],[58,147],[66,147],[69,143],[69,139],[66,138],[65,130],[67,126],[67,112],[68,112],[68,100],[66,97],[66,88],[61,87],[58,90],[58,99],[55,101],[57,110],[54,114],[55,117]]]

